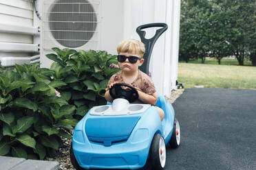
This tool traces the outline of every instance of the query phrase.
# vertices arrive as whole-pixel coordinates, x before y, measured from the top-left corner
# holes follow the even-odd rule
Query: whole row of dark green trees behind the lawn
[[[246,58],[256,65],[253,0],[182,0],[180,60],[214,57],[219,64],[235,56],[239,65]]]

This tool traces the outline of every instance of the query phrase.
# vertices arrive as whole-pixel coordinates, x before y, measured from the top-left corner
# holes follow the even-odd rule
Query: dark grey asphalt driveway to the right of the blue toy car
[[[173,107],[182,138],[165,169],[256,169],[256,90],[189,88]]]

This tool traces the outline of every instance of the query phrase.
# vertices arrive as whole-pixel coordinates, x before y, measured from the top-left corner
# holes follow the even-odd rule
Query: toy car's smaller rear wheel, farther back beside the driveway
[[[177,148],[180,146],[180,123],[177,119],[174,119],[173,134],[169,142],[171,148]]]

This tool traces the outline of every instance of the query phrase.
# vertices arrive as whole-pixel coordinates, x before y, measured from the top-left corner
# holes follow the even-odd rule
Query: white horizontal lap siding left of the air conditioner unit
[[[39,34],[35,31],[32,34],[33,29],[37,26],[34,25],[32,1],[0,0],[0,60],[3,66],[30,63],[30,57],[38,55],[34,44]]]

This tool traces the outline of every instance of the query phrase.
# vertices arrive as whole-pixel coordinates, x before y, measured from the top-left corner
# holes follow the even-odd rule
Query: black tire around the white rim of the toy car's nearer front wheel
[[[162,147],[164,146],[164,151],[162,151],[162,154],[164,154],[164,160],[160,159],[160,141],[163,142]],[[162,161],[164,161],[164,163]],[[161,165],[161,162],[162,162],[162,165]],[[163,170],[165,166],[165,162],[166,162],[166,148],[165,148],[164,138],[160,134],[155,134],[153,136],[153,140],[150,146],[149,158],[147,159],[145,168],[151,166],[151,169]]]

